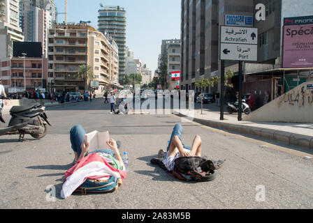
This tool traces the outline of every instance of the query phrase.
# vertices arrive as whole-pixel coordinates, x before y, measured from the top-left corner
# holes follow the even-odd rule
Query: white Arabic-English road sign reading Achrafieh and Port
[[[221,26],[220,59],[231,61],[257,61],[258,29]]]

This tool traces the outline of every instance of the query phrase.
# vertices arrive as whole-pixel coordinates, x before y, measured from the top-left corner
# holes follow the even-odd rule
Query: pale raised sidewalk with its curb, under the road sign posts
[[[228,114],[226,107],[224,108],[224,121],[221,121],[219,107],[213,104],[205,105],[204,107],[203,114],[201,114],[201,109],[198,109],[198,106],[195,105],[193,121],[196,123],[239,134],[249,134],[289,146],[300,146],[313,151],[312,123],[256,123],[238,121],[238,114]],[[183,114],[181,112],[179,116],[184,116]],[[242,117],[244,116],[245,114],[242,114]]]

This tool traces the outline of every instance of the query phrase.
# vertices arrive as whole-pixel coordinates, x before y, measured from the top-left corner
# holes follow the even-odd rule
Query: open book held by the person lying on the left
[[[85,141],[89,143],[89,153],[97,151],[99,149],[108,149],[109,146],[106,144],[110,140],[109,132],[90,132],[85,134]]]

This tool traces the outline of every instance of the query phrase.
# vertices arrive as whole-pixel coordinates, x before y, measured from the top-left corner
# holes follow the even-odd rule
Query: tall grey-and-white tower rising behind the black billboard
[[[48,30],[55,23],[54,0],[20,0],[20,28],[24,41],[41,42],[43,55],[48,56]]]

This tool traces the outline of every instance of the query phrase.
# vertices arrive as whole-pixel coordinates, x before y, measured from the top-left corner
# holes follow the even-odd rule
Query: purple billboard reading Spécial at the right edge
[[[283,67],[313,68],[313,24],[284,26]]]

